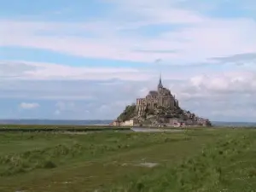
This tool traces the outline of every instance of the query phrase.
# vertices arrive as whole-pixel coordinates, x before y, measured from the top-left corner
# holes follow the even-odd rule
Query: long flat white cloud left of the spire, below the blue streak
[[[152,75],[154,74],[145,75],[131,67],[70,67],[55,63],[0,61],[1,79],[147,80]]]

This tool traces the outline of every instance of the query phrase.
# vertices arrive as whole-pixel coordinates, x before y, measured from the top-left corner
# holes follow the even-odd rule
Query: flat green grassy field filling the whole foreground
[[[256,130],[2,132],[0,191],[256,191]]]

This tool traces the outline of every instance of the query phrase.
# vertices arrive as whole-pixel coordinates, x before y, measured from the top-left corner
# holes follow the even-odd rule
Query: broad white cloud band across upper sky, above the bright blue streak
[[[214,18],[180,1],[107,2],[113,11],[95,22],[0,20],[0,46],[170,64],[256,52],[252,18]]]

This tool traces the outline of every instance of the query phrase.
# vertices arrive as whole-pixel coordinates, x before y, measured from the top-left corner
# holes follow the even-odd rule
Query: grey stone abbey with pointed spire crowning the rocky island
[[[136,111],[139,115],[143,115],[146,110],[154,110],[159,107],[178,107],[178,102],[177,99],[175,99],[175,96],[172,96],[171,91],[163,86],[161,76],[157,90],[150,90],[148,92],[148,96],[144,98],[137,98]]]

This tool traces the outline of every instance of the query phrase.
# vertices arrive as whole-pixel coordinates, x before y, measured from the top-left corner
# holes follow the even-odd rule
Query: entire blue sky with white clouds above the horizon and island
[[[255,0],[0,0],[0,119],[115,119],[155,90],[256,121]]]

